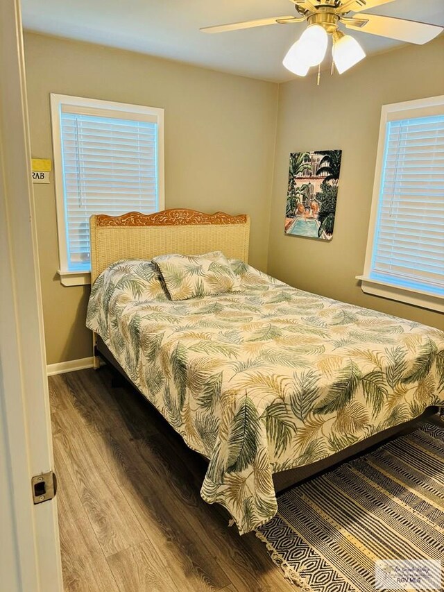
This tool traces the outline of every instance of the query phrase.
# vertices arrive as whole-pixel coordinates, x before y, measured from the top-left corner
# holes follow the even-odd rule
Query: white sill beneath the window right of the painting
[[[427,294],[426,292],[400,287],[366,276],[356,276],[356,279],[361,281],[361,289],[366,294],[382,296],[382,298],[389,298],[390,300],[413,304],[422,308],[428,308],[429,310],[444,312],[444,294],[442,296]]]

